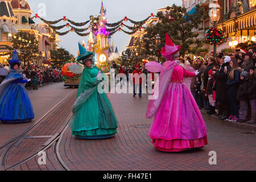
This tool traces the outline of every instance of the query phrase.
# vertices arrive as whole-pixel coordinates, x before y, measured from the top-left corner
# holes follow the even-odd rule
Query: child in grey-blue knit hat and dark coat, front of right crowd
[[[240,74],[240,85],[237,90],[237,100],[240,101],[240,119],[237,122],[240,123],[245,123],[247,119],[248,105],[246,90],[248,88],[248,77],[248,72],[242,72]]]

